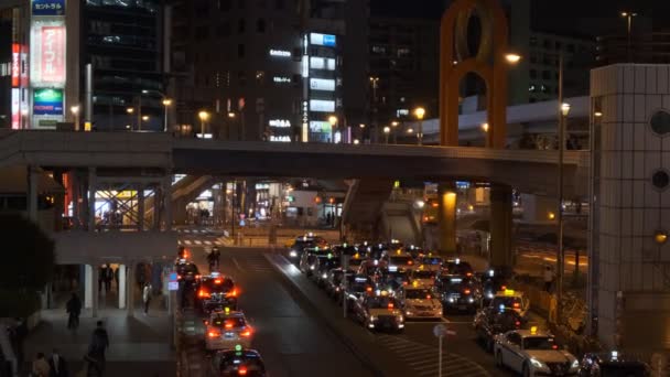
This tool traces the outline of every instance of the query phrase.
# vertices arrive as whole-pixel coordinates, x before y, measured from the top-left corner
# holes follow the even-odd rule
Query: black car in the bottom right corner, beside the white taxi
[[[586,354],[580,365],[580,377],[648,377],[649,366],[625,353]]]

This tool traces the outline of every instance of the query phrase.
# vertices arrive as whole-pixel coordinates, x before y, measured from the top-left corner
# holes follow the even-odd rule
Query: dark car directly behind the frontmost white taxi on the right
[[[473,327],[488,352],[494,352],[494,337],[498,334],[521,328],[523,320],[511,309],[484,308],[475,314]]]

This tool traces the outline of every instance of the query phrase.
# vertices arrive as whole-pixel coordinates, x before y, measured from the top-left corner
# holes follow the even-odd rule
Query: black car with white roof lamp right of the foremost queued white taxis
[[[477,280],[465,276],[441,276],[436,287],[442,294],[444,311],[475,312],[482,306],[482,291]]]

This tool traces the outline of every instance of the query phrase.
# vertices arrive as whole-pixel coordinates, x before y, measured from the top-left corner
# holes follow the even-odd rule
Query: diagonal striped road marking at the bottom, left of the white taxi
[[[439,371],[437,346],[412,342],[402,336],[379,334],[377,342],[390,349],[414,370],[414,376],[435,376]],[[480,365],[460,355],[442,353],[442,374],[450,377],[489,377]]]

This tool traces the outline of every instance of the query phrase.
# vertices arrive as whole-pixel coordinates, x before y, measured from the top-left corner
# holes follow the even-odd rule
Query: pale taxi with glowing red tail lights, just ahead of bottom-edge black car
[[[205,348],[207,351],[233,349],[236,345],[251,347],[253,330],[242,312],[213,312],[205,323]]]

